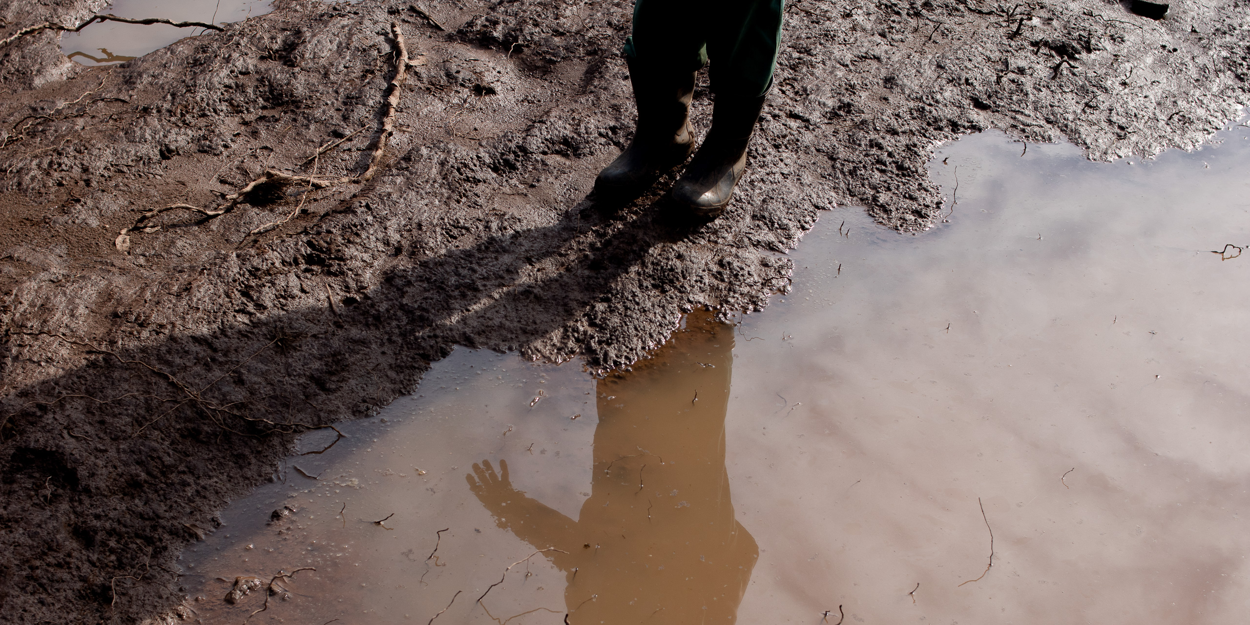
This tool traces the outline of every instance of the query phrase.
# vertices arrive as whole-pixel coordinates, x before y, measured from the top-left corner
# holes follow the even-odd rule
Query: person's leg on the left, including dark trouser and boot
[[[694,151],[689,124],[695,72],[706,62],[699,0],[638,0],[625,40],[638,126],[629,148],[595,180],[596,191],[630,200]]]

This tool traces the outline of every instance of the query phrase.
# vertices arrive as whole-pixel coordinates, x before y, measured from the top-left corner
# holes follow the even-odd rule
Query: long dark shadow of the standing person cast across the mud
[[[294,435],[389,404],[458,344],[516,349],[576,325],[651,248],[686,232],[648,206],[612,236],[586,238],[600,218],[586,201],[571,210],[551,226],[402,256],[379,286],[326,306],[265,316],[252,299],[242,312],[255,321],[212,332],[136,349],[20,336],[90,360],[0,399],[0,522],[14,554],[0,608],[41,598],[128,621],[175,606],[178,574],[158,564],[212,531],[230,496],[278,479]],[[324,264],[290,271],[335,275],[334,250],[309,255]],[[554,275],[524,278],[544,260]],[[31,332],[6,342],[20,334]]]

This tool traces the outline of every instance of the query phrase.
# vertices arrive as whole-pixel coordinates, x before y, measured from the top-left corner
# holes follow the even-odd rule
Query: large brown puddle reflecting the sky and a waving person
[[[186,605],[202,622],[1238,622],[1250,256],[1210,251],[1250,242],[1234,130],[1146,162],[948,145],[948,224],[825,214],[790,294],[736,325],[691,314],[632,371],[460,349],[192,529]]]

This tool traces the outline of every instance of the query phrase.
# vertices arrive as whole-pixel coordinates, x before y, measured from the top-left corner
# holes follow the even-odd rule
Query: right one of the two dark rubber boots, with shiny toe
[[[675,201],[705,218],[715,218],[725,210],[746,169],[746,146],[765,98],[716,95],[711,130],[681,179],[672,185]]]

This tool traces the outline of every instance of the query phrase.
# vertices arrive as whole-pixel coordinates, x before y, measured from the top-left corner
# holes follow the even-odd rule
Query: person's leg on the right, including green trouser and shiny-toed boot
[[[719,215],[746,168],[746,148],[772,86],[781,42],[782,0],[729,0],[708,34],[712,125],[672,188],[695,212]]]

